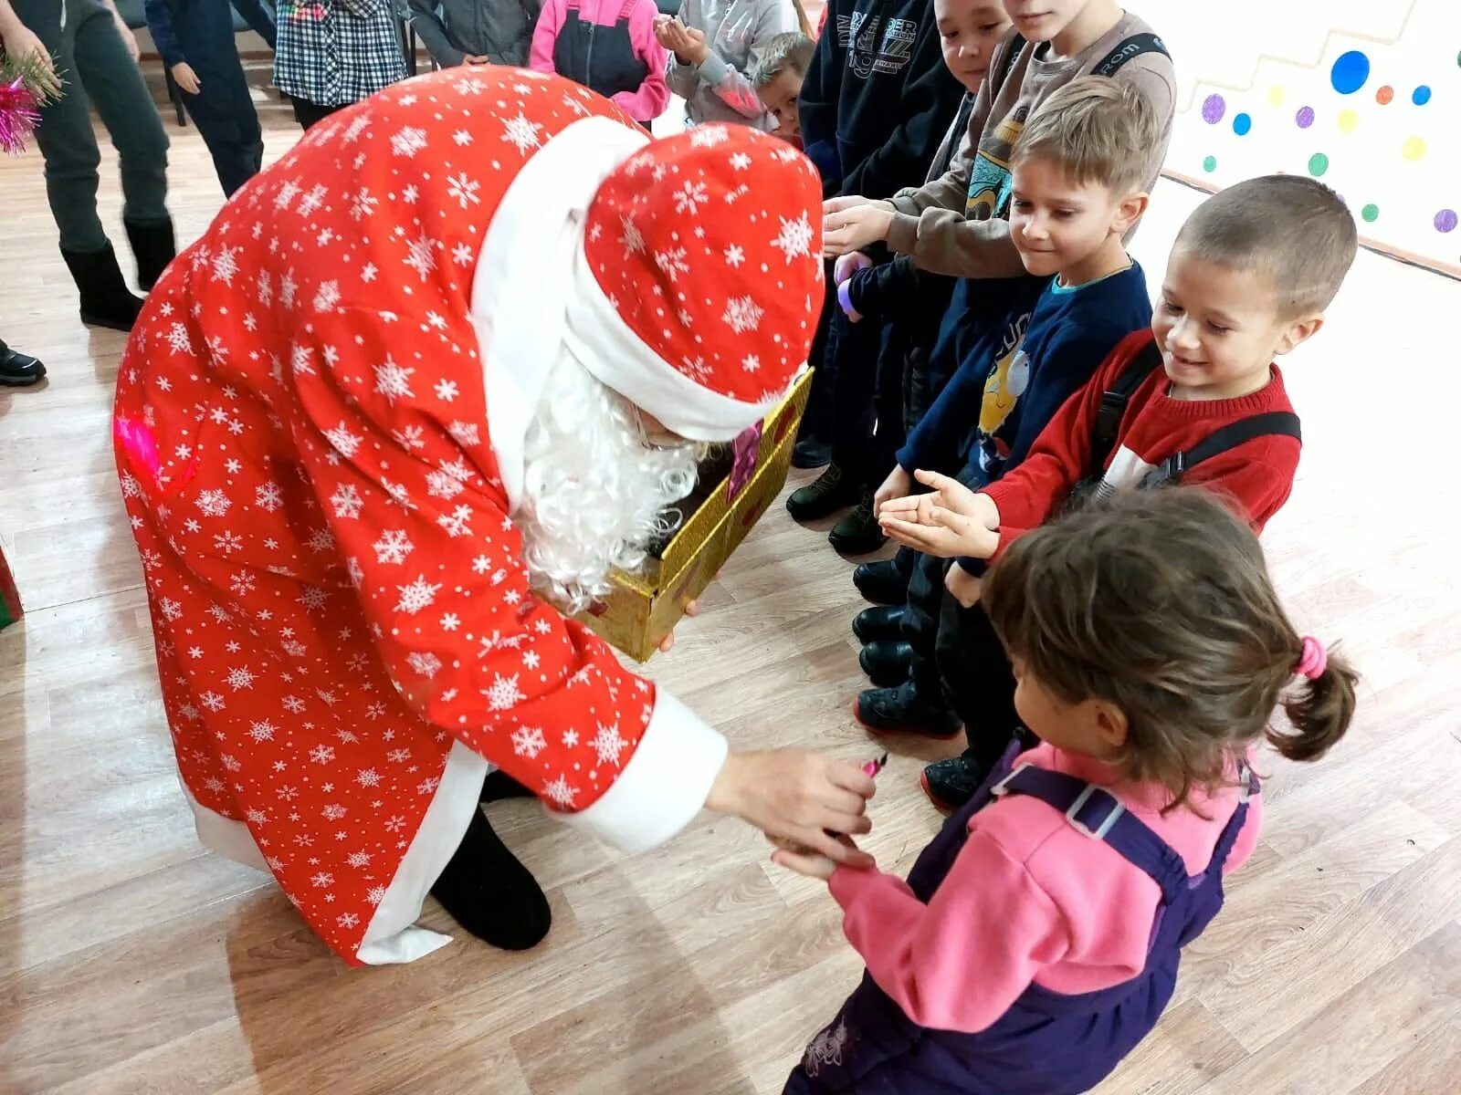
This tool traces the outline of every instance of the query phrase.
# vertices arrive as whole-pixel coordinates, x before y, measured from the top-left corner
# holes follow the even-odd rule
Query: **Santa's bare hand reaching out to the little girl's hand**
[[[855,764],[805,749],[771,749],[730,753],[706,806],[849,867],[871,867],[871,856],[831,834],[871,832],[866,800],[875,790],[872,777]]]

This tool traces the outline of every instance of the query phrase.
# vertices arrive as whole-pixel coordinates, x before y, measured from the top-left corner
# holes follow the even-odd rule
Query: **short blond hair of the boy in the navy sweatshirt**
[[[1036,107],[1010,162],[1042,156],[1062,165],[1072,182],[1097,182],[1124,196],[1145,185],[1160,139],[1157,112],[1135,88],[1081,76]]]

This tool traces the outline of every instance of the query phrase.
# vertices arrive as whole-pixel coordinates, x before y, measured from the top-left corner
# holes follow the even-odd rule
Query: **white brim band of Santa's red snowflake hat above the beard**
[[[568,352],[600,384],[691,441],[732,441],[742,429],[766,418],[786,394],[780,391],[760,403],[742,403],[672,368],[624,323],[581,250],[573,267],[564,340]]]

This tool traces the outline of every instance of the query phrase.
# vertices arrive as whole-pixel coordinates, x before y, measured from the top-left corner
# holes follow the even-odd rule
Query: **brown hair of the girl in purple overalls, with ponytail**
[[[1258,537],[1204,488],[1118,491],[1023,536],[982,602],[1011,658],[1055,696],[1126,715],[1118,764],[1172,793],[1223,784],[1259,737],[1292,761],[1349,729],[1357,676],[1337,653],[1296,677],[1305,642]],[[1292,730],[1271,726],[1283,705]]]

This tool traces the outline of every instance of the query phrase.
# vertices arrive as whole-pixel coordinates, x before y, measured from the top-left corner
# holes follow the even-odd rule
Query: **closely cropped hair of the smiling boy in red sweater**
[[[1322,311],[1354,261],[1359,234],[1340,196],[1312,178],[1262,175],[1220,190],[1186,219],[1176,247],[1271,283],[1281,318]]]

